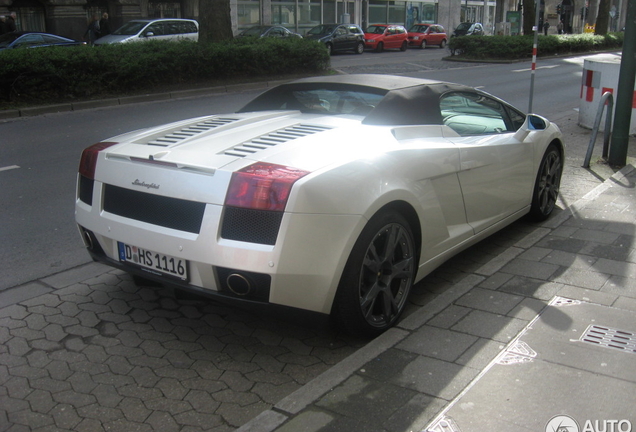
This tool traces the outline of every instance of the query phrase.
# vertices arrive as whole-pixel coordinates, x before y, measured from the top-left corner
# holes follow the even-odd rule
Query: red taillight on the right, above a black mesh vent
[[[225,205],[283,211],[292,186],[307,174],[309,171],[257,162],[232,174]]]

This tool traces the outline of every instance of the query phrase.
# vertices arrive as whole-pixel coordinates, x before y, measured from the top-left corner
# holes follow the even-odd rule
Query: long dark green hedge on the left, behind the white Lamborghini
[[[324,72],[323,44],[306,39],[144,42],[0,52],[0,101],[11,104],[134,94],[179,84]]]

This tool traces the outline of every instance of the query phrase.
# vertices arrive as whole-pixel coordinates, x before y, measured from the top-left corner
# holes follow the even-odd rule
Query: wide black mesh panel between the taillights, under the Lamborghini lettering
[[[104,210],[129,219],[198,234],[205,204],[106,185]]]

